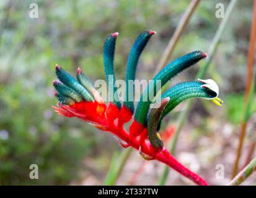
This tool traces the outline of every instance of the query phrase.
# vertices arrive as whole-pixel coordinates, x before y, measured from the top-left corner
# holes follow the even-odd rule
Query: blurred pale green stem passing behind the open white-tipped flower
[[[229,16],[231,15],[231,12],[232,12],[236,2],[237,2],[237,0],[231,0],[229,2],[229,5],[227,6],[225,17],[221,21],[221,24],[219,24],[218,30],[217,30],[216,34],[214,35],[213,41],[211,42],[211,45],[210,45],[210,48],[208,49],[208,53],[207,53],[208,54],[208,59],[206,59],[205,65],[200,68],[200,70],[198,71],[198,74],[196,75],[200,79],[203,78],[205,76],[206,72],[208,71],[211,59],[214,56],[214,53],[215,53],[216,48],[218,46],[219,40],[221,39],[221,35],[223,33],[223,30],[227,25],[227,21],[229,19]],[[188,111],[190,110],[190,108],[192,106],[192,103],[193,103],[192,100],[188,100],[184,110],[179,114],[179,118],[178,118],[178,122],[177,122],[178,123],[177,124],[177,131],[175,132],[172,141],[168,145],[168,149],[170,150],[172,155],[174,155],[180,131],[181,131],[183,125],[185,124],[187,114],[188,114]],[[169,168],[167,168],[167,166],[166,166],[166,167],[164,167],[164,171],[162,173],[162,176],[159,179],[159,185],[166,184],[168,174],[169,174]]]

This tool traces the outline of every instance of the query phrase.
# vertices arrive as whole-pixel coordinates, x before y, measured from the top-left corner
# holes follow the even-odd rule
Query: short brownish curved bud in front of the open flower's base
[[[161,136],[158,133],[157,126],[161,119],[162,111],[166,108],[169,100],[169,97],[162,99],[154,106],[154,108],[152,108],[148,116],[148,139],[151,145],[156,149],[162,149],[164,146]]]

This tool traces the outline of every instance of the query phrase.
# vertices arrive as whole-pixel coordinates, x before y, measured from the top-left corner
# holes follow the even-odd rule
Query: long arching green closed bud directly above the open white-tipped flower
[[[143,94],[141,95],[138,106],[136,108],[135,120],[138,123],[141,123],[144,126],[147,126],[149,105],[151,103],[151,101],[149,100],[149,96],[151,95],[156,96],[156,93],[159,92],[160,88],[157,88],[158,80],[161,80],[160,82],[162,87],[166,84],[166,82],[168,82],[168,80],[172,79],[172,77],[179,74],[179,72],[182,72],[184,69],[187,69],[188,67],[192,66],[196,62],[206,57],[207,57],[206,53],[202,51],[194,51],[178,59],[175,59],[174,61],[167,64],[167,66],[164,67],[164,69],[162,69],[152,79],[151,83],[149,83],[148,87],[146,88],[146,90],[144,90]],[[154,90],[156,90],[156,92],[154,92]]]

